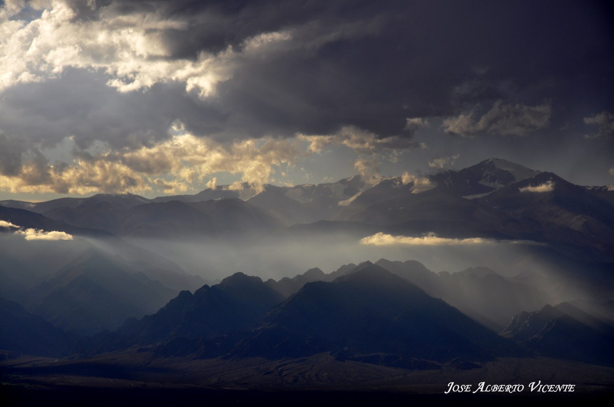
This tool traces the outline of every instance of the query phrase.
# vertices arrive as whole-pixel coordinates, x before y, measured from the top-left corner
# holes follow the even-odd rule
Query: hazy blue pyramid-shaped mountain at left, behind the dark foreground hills
[[[155,312],[176,291],[121,259],[89,249],[28,293],[28,308],[54,325],[79,335],[115,329],[126,318]]]

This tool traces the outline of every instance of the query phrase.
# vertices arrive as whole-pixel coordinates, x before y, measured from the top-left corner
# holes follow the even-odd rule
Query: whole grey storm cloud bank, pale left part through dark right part
[[[2,118],[7,134],[42,138],[44,132],[45,140],[57,141],[68,132],[79,135],[82,146],[96,138],[139,145],[165,137],[180,119],[218,139],[332,134],[343,126],[411,137],[407,118],[458,115],[495,101],[553,99],[553,108],[567,108],[577,102],[577,84],[603,101],[612,85],[611,8],[601,3],[69,4],[84,21],[143,13],[183,21],[182,28],[160,30],[168,54],[160,59],[193,60],[231,46],[236,66],[217,84],[216,96],[203,101],[182,94],[181,83],[118,94],[106,88],[102,74],[68,72],[50,83],[20,85],[5,92],[3,104],[10,101],[7,111],[14,115]],[[242,53],[247,40],[277,31],[289,32],[287,44],[263,55]]]

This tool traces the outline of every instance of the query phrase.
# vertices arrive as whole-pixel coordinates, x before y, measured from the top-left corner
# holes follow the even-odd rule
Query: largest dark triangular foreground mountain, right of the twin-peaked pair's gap
[[[263,318],[235,356],[272,358],[342,352],[394,360],[487,360],[507,341],[442,300],[373,264],[332,283],[306,284]]]

